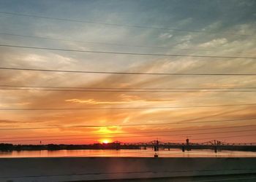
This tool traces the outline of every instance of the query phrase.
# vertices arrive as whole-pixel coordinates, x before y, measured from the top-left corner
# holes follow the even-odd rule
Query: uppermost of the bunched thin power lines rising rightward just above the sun
[[[184,129],[184,130],[161,130],[161,131],[148,131],[148,132],[113,132],[108,135],[130,135],[130,134],[142,134],[142,133],[155,133],[155,132],[183,132],[183,131],[197,131],[197,130],[219,130],[227,128],[238,128],[238,127],[256,127],[256,124],[247,124],[241,126],[230,126],[230,127],[210,127],[210,128],[198,128],[198,129]],[[29,136],[29,137],[11,137],[1,139],[19,139],[19,138],[55,138],[55,137],[74,137],[74,136],[98,136],[99,134],[82,134],[82,135],[48,135],[48,136]]]

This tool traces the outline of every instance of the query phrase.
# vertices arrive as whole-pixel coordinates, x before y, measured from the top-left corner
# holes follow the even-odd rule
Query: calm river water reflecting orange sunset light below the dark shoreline
[[[154,157],[152,149],[147,150],[59,150],[59,151],[0,151],[1,157]],[[158,151],[159,157],[256,157],[251,151],[192,150],[178,149]]]

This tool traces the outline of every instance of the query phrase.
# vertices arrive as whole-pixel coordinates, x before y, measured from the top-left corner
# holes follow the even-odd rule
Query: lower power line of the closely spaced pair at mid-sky
[[[23,89],[23,88],[0,88],[0,90],[23,90],[23,91],[55,91],[55,92],[256,92],[256,90],[57,90],[57,89]]]

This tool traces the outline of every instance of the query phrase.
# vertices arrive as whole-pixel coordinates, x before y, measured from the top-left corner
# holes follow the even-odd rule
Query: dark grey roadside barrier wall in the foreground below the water
[[[0,181],[91,181],[256,174],[256,158],[1,158]]]

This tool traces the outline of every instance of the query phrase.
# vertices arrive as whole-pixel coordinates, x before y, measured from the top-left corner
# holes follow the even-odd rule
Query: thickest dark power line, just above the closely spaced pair
[[[162,75],[162,76],[256,76],[256,74],[189,74],[189,73],[143,73],[143,72],[116,72],[116,71],[72,71],[72,70],[55,70],[55,69],[37,69],[37,68],[11,68],[0,67],[4,70],[19,71],[45,71],[60,73],[77,73],[77,74],[129,74],[129,75]]]

